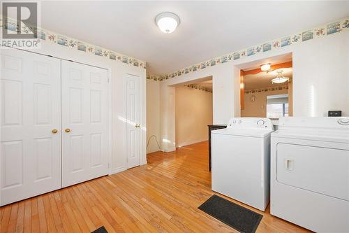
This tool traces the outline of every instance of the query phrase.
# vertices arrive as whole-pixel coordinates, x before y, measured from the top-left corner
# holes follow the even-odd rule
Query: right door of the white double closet
[[[108,174],[107,70],[61,62],[63,187]]]

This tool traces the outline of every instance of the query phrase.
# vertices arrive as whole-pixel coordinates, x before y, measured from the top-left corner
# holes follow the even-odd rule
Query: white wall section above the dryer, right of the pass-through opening
[[[293,115],[349,116],[349,31],[300,44],[293,66]]]

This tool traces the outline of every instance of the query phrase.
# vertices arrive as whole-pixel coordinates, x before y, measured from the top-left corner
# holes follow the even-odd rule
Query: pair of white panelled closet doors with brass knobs
[[[108,174],[107,70],[0,52],[0,206]]]

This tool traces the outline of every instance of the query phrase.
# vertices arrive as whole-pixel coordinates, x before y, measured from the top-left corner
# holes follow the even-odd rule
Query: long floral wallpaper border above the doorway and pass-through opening
[[[251,46],[249,48],[245,48],[237,52],[230,52],[227,55],[215,57],[205,62],[200,62],[198,64],[193,64],[191,66],[188,66],[184,69],[179,69],[172,73],[166,73],[158,76],[149,74],[147,75],[147,79],[159,80],[159,81],[167,80],[169,78],[179,77],[186,73],[191,73],[194,71],[198,71],[200,69],[205,69],[209,66],[216,66],[228,61],[257,55],[261,52],[269,52],[270,50],[276,50],[276,49],[283,48],[295,43],[303,43],[305,41],[313,40],[315,38],[321,38],[323,36],[329,36],[345,30],[349,30],[349,17],[343,18],[341,20],[336,20],[335,22],[321,25],[319,27],[314,27],[313,29],[307,29],[296,34],[292,34],[290,36],[284,36],[282,38],[278,38],[273,41],[260,43],[259,45]]]

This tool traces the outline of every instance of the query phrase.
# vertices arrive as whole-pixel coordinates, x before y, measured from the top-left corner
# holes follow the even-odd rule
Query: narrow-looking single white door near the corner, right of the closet
[[[140,77],[126,74],[126,154],[127,168],[140,165]]]

